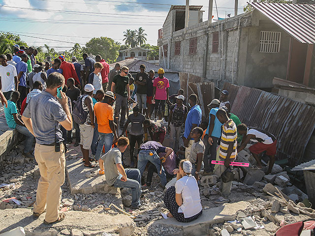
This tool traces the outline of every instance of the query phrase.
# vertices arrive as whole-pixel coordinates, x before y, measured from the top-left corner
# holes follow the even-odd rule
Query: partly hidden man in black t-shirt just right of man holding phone
[[[74,85],[74,79],[69,78],[67,79],[67,87],[68,90],[65,92],[65,94],[71,99],[71,107],[73,109],[73,101],[78,100],[78,97],[81,95],[80,89],[75,87]],[[77,124],[73,118],[72,118],[73,126],[75,129],[75,144],[74,147],[79,146],[80,143],[80,127],[79,124]],[[72,143],[72,130],[68,131],[68,137],[67,137],[68,143]]]

